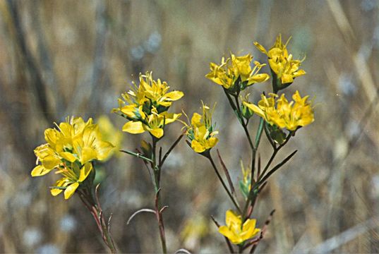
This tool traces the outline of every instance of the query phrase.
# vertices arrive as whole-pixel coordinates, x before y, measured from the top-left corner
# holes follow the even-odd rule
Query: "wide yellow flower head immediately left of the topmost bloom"
[[[249,85],[268,80],[270,76],[267,73],[258,73],[265,64],[254,61],[254,67],[251,68],[251,61],[253,61],[251,54],[245,56],[230,54],[226,61],[224,57],[222,58],[220,65],[210,63],[210,73],[205,77],[231,92],[244,90]]]

